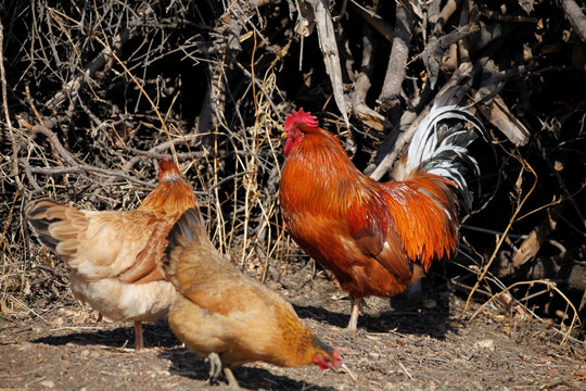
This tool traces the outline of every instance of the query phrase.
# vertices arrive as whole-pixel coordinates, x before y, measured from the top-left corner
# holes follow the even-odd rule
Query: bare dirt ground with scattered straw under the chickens
[[[349,300],[318,276],[281,286],[303,320],[341,351],[339,373],[263,363],[233,370],[247,390],[584,390],[584,344],[544,323],[520,320],[487,307],[459,323],[463,299],[423,288],[418,310],[369,300],[356,336],[345,327]],[[296,287],[295,287],[296,285]],[[293,288],[295,287],[295,288]],[[479,307],[479,303],[474,304]],[[64,298],[29,308],[29,317],[0,323],[0,387],[61,390],[215,390],[208,364],[187,350],[165,320],[144,325],[146,349],[135,353],[130,324],[97,321],[87,307]]]

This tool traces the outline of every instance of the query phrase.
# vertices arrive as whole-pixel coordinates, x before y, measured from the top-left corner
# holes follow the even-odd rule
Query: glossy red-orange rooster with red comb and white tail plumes
[[[453,127],[437,126],[457,119]],[[331,270],[352,297],[348,329],[362,299],[403,292],[435,258],[456,249],[459,204],[471,195],[461,163],[477,172],[467,147],[482,124],[456,106],[434,108],[417,129],[388,182],[360,173],[340,141],[316,117],[293,111],[284,124],[282,215],[293,240]]]

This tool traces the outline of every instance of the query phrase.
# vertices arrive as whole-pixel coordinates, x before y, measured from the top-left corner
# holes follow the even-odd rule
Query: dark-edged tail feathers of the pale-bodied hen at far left
[[[33,232],[41,244],[55,250],[62,238],[55,238],[49,230],[53,223],[65,219],[65,209],[67,206],[59,204],[49,199],[42,199],[27,203],[24,213],[26,220]]]

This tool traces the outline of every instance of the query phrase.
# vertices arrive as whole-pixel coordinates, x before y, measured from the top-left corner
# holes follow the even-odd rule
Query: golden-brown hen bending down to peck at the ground
[[[169,327],[188,348],[208,356],[211,376],[263,361],[283,367],[337,368],[340,354],[302,324],[278,292],[243,275],[209,241],[198,209],[188,210],[168,237],[167,278],[177,292]]]

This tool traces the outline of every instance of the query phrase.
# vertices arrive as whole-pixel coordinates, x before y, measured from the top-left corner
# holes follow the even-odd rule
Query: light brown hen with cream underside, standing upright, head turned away
[[[29,202],[25,215],[39,241],[67,264],[74,297],[113,320],[135,321],[139,350],[141,323],[166,315],[175,292],[161,265],[167,234],[194,206],[195,193],[164,159],[158,185],[135,211],[84,211],[42,199]]]

